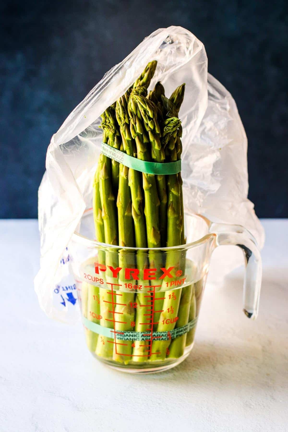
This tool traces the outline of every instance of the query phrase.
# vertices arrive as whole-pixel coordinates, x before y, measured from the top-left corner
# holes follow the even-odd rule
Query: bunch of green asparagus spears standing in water
[[[103,141],[143,161],[173,162],[180,159],[182,152],[178,113],[185,85],[177,87],[170,98],[165,96],[164,87],[159,82],[147,94],[156,64],[156,61],[150,62],[133,86],[101,115]],[[175,325],[180,327],[195,318],[194,287],[172,290],[167,283],[171,279],[168,280],[167,276],[160,279],[162,267],[174,268],[174,281],[180,278],[176,276],[177,270],[185,267],[183,248],[172,249],[166,254],[161,251],[163,247],[184,245],[186,241],[180,173],[141,173],[101,154],[93,191],[96,238],[111,245],[105,253],[98,252],[98,262],[121,270],[116,280],[106,276],[105,287],[83,284],[83,315],[119,332],[145,332],[151,328],[173,330]],[[113,245],[121,249],[117,252]],[[137,252],[127,250],[127,247],[135,247]],[[139,250],[147,247],[159,249],[149,251],[147,256],[145,251]],[[135,267],[139,270],[138,280],[125,279],[125,269]],[[144,280],[143,276],[148,268],[151,271],[156,269],[155,278],[150,281]],[[136,290],[127,288],[129,285],[136,286]],[[113,287],[112,291],[110,287]],[[111,296],[117,296],[119,287],[121,301],[114,298],[116,305],[112,310]],[[153,323],[151,313],[147,312],[151,307],[152,293],[156,305]],[[121,319],[115,319],[115,316]],[[169,324],[167,318],[170,318]],[[188,336],[188,339],[184,334],[172,342],[155,340],[149,344],[123,341],[117,337],[115,340],[98,337],[86,330],[87,344],[92,352],[124,364],[180,357],[185,344],[193,341],[193,333]]]

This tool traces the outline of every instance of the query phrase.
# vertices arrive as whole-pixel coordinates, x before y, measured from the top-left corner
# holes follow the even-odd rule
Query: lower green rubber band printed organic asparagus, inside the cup
[[[111,337],[111,339],[115,338],[116,331],[116,339],[118,340],[150,340],[147,332],[145,331],[133,331],[133,330],[123,330],[117,331],[108,327],[103,327],[100,324],[93,323],[89,321],[87,318],[82,317],[82,322],[86,328],[91,330],[93,333],[101,334],[101,336]],[[157,340],[171,340],[176,337],[182,336],[185,333],[188,333],[193,327],[196,326],[197,318],[192,321],[189,321],[188,324],[183,325],[182,327],[174,328],[173,330],[168,331],[153,331],[152,339]]]

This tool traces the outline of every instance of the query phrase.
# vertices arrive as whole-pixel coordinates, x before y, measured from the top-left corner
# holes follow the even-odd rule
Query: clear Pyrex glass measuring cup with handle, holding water
[[[219,245],[244,252],[244,313],[258,312],[262,266],[253,236],[242,226],[185,215],[187,244],[123,248],[91,240],[84,213],[70,248],[86,343],[97,359],[127,372],[157,372],[182,362],[193,348],[209,269]]]

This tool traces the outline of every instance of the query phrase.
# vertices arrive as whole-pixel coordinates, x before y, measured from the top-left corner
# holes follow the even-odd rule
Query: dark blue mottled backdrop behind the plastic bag
[[[0,217],[37,217],[51,135],[103,74],[159,27],[206,47],[248,136],[249,197],[288,216],[287,1],[9,1],[0,5]]]

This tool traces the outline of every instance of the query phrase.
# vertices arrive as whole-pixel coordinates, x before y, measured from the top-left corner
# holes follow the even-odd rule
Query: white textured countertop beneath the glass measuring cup
[[[207,283],[192,353],[152,375],[97,362],[82,325],[38,306],[36,220],[0,220],[0,431],[287,431],[288,220],[265,219],[260,314],[242,312],[243,269]]]

